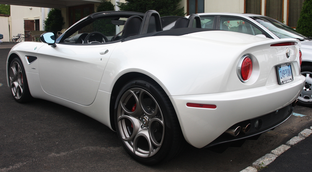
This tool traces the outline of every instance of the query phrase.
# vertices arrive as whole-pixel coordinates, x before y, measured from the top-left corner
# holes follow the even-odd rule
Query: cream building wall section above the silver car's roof
[[[244,13],[244,0],[206,0],[205,12]]]

